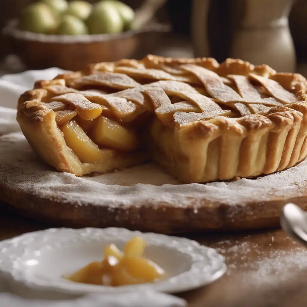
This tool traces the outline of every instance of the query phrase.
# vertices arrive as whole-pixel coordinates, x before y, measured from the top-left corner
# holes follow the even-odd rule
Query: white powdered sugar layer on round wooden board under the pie
[[[302,162],[289,170],[260,177],[256,180],[240,179],[232,182],[183,184],[154,165],[143,165],[121,172],[97,177],[77,178],[70,173],[59,173],[42,163],[30,149],[21,133],[0,137],[0,182],[16,191],[28,192],[42,198],[63,203],[100,205],[128,208],[142,199],[150,206],[186,208],[193,212],[204,199],[232,206],[235,215],[251,200],[259,202],[271,198],[290,198],[305,195],[307,164]]]

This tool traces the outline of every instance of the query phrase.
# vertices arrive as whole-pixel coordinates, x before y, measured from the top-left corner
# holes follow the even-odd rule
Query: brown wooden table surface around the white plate
[[[0,240],[55,226],[38,223],[7,212],[1,208],[1,204],[0,209]],[[300,271],[307,268],[307,251],[281,230],[186,236],[216,248],[226,257],[228,266],[227,274],[219,281],[180,295],[188,301],[189,306],[239,307],[242,304],[242,306],[251,307],[266,306],[266,303],[267,306],[278,307],[306,306],[306,294],[302,305],[292,304],[293,293],[289,299],[290,305],[281,304],[281,301],[285,303],[286,298],[282,296],[282,294],[285,295],[285,291],[280,281],[286,281],[288,288],[290,283],[293,288],[296,283],[292,282],[292,279],[300,276]],[[307,285],[307,278],[305,280],[303,278],[303,283]],[[275,290],[274,287],[276,287]],[[263,291],[269,291],[269,294],[265,295]],[[305,290],[303,292],[305,293]],[[269,302],[272,305],[269,305]]]

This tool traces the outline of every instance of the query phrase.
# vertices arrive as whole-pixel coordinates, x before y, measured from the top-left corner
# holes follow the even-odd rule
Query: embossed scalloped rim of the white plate
[[[125,242],[125,239],[121,240],[121,236],[115,237],[115,235],[141,235],[145,237],[145,240],[148,241],[149,245],[165,245],[171,246],[172,249],[175,249],[177,252],[181,252],[191,256],[191,269],[186,270],[185,272],[173,276],[171,278],[167,278],[162,282],[157,283],[149,283],[149,284],[139,284],[139,285],[130,285],[130,286],[122,286],[122,287],[107,287],[107,286],[93,286],[86,284],[78,284],[72,283],[62,280],[52,280],[39,278],[37,275],[28,274],[26,271],[22,270],[14,270],[13,263],[16,261],[18,256],[14,255],[14,257],[10,258],[10,260],[2,260],[5,258],[4,253],[0,254],[0,273],[4,274],[4,277],[7,278],[10,282],[13,283],[21,283],[31,289],[34,290],[49,290],[56,291],[59,293],[69,293],[69,294],[85,294],[85,293],[118,293],[118,292],[127,292],[129,290],[156,290],[159,292],[165,293],[178,293],[183,291],[189,291],[192,289],[199,288],[201,286],[206,286],[215,282],[219,278],[221,278],[227,270],[227,266],[225,264],[225,258],[217,253],[214,249],[210,247],[206,247],[201,245],[195,240],[190,240],[184,237],[176,237],[169,236],[163,234],[157,234],[153,232],[140,232],[140,231],[130,231],[126,228],[116,228],[116,227],[108,227],[108,228],[94,228],[94,227],[86,227],[80,229],[72,229],[66,227],[60,228],[49,228],[40,231],[33,231],[22,234],[20,236],[16,236],[11,239],[6,239],[0,242],[0,251],[5,248],[6,251],[8,248],[11,250],[16,250],[21,245],[22,242],[27,238],[37,237],[38,239],[43,237],[45,234],[49,235],[54,233],[61,232],[69,232],[73,235],[77,234],[86,234],[85,238],[91,239],[95,233],[100,239],[103,239],[103,234],[111,235],[116,240],[120,240]],[[87,236],[88,235],[88,236]],[[81,235],[84,238],[84,235]],[[92,237],[93,238],[93,237]],[[73,237],[67,239],[65,237],[62,239],[64,242],[71,241]],[[158,244],[153,244],[152,242],[160,239],[161,242]],[[34,239],[35,240],[35,239]],[[105,239],[107,240],[107,239]],[[170,242],[173,242],[173,245],[170,245]],[[177,247],[176,247],[177,244]],[[5,247],[8,246],[8,247]],[[190,249],[190,250],[189,250]],[[189,253],[190,251],[190,253]],[[197,257],[193,259],[193,253],[196,253],[198,257],[202,257],[197,260]],[[24,253],[21,254],[23,256]],[[19,256],[19,257],[21,257]],[[208,260],[209,259],[209,260]],[[18,261],[18,259],[17,259]],[[4,266],[3,266],[4,265]],[[206,270],[204,270],[206,268]],[[193,276],[193,282],[186,282],[187,277]]]

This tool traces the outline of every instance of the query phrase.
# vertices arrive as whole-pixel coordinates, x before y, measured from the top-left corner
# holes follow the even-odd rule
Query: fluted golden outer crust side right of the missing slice
[[[155,146],[150,152],[156,161],[187,183],[256,177],[287,169],[307,155],[307,116],[296,110],[283,114],[253,115],[249,121],[217,118],[193,125],[151,127]],[[159,138],[172,135],[173,143]],[[167,137],[166,137],[167,138]],[[172,144],[172,145],[170,145]],[[171,149],[170,149],[171,147]]]

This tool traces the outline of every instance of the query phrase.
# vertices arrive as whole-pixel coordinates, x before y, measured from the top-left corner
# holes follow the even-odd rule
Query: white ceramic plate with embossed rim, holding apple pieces
[[[107,244],[120,249],[135,235],[148,246],[145,257],[167,274],[164,280],[142,285],[108,287],[75,283],[62,278],[92,261],[101,261]],[[125,292],[135,289],[177,293],[208,285],[226,271],[224,257],[214,249],[173,236],[122,228],[52,228],[0,242],[0,272],[10,281],[62,293]],[[144,290],[145,290],[144,289]]]

